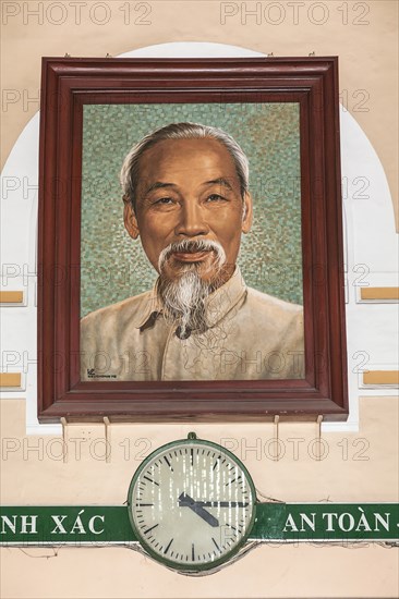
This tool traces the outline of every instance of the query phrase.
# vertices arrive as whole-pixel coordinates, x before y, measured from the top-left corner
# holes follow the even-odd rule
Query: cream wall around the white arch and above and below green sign
[[[44,5],[56,2],[44,2]],[[397,129],[397,13],[395,1],[303,2],[299,24],[287,2],[286,20],[257,25],[241,16],[220,24],[220,3],[148,2],[148,25],[126,25],[119,10],[124,2],[105,2],[111,12],[107,25],[88,19],[89,8],[82,4],[81,24],[74,25],[72,2],[62,2],[68,19],[63,25],[46,20],[37,24],[26,7],[39,2],[2,2],[2,87],[8,90],[2,102],[2,157],[7,158],[24,124],[37,110],[41,56],[112,56],[152,44],[178,40],[203,40],[233,44],[275,56],[339,54],[340,89],[348,95],[353,115],[371,138],[386,169],[392,195],[397,197],[396,164],[398,149],[392,134]],[[25,5],[25,13],[24,7]],[[58,2],[61,4],[61,2]],[[131,21],[137,2],[129,3]],[[241,2],[231,5],[241,7]],[[262,2],[265,8],[270,2]],[[275,4],[277,4],[275,2]],[[291,3],[292,4],[292,3]],[[314,25],[306,11],[315,4],[328,7],[329,19]],[[4,7],[20,8],[20,14],[4,16]],[[247,3],[249,9],[255,2]],[[348,7],[347,25],[339,7]],[[355,9],[355,5],[358,7]],[[363,20],[359,5],[370,7]],[[10,8],[11,7],[11,8]],[[16,10],[15,9],[15,10]],[[53,9],[56,11],[56,9]],[[271,13],[270,13],[271,14]],[[313,13],[319,19],[317,12]],[[100,12],[97,13],[98,19]],[[27,21],[27,24],[24,24]],[[58,19],[53,13],[53,19]],[[276,19],[276,16],[274,16]],[[13,91],[14,90],[14,91]],[[353,110],[365,90],[367,112]],[[353,95],[360,94],[355,97]],[[12,96],[14,94],[14,96]],[[4,103],[4,98],[21,98]],[[25,103],[24,103],[25,100]],[[366,174],[366,173],[360,173]],[[285,501],[397,501],[398,496],[398,400],[364,398],[360,402],[360,431],[326,433],[328,454],[317,462],[307,453],[315,438],[313,424],[287,424],[280,427],[286,455],[274,462],[265,454],[273,427],[258,425],[131,425],[112,427],[112,453],[109,464],[101,460],[102,438],[99,426],[69,428],[68,463],[58,460],[58,445],[51,437],[25,436],[24,400],[2,400],[1,432],[4,443],[15,443],[15,451],[2,454],[1,501],[4,504],[121,504],[130,478],[138,464],[137,453],[181,438],[191,429],[201,437],[238,443],[237,453],[244,460],[264,496]],[[72,438],[85,439],[80,459]],[[288,439],[291,439],[289,441]],[[294,460],[292,439],[299,441]],[[5,441],[4,441],[5,440]],[[11,440],[11,441],[10,441]],[[234,441],[235,440],[235,441]],[[258,441],[257,441],[258,440]],[[261,454],[249,449],[257,443]],[[38,448],[37,451],[32,448]],[[31,450],[29,450],[31,448]],[[246,453],[245,453],[246,448]],[[348,455],[344,449],[348,448]],[[128,449],[130,450],[128,452]],[[362,454],[360,450],[364,449]],[[95,451],[97,450],[97,454]],[[129,455],[128,455],[129,453]],[[37,559],[41,558],[41,559]],[[37,597],[395,597],[398,595],[398,553],[379,546],[363,548],[321,546],[263,546],[222,572],[201,579],[186,578],[153,564],[142,555],[121,548],[102,549],[2,549],[2,594],[4,598]]]

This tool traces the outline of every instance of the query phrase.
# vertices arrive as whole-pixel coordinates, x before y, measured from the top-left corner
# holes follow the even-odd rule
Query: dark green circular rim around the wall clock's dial
[[[237,457],[237,455],[234,455],[230,450],[223,448],[222,445],[219,445],[218,443],[215,443],[213,441],[207,441],[206,439],[198,439],[196,436],[191,437],[191,435],[195,435],[195,433],[190,432],[186,439],[178,439],[176,441],[170,441],[169,443],[165,443],[164,445],[160,445],[156,450],[152,451],[152,453],[149,455],[147,455],[147,457],[145,457],[143,460],[143,462],[138,465],[138,467],[136,468],[136,470],[135,470],[135,473],[132,477],[132,480],[130,482],[129,490],[128,490],[129,521],[130,521],[130,524],[133,528],[133,531],[134,531],[140,545],[145,549],[145,551],[148,553],[148,555],[150,558],[153,558],[156,562],[161,563],[161,564],[166,565],[167,567],[169,567],[171,570],[185,572],[186,574],[200,573],[200,572],[204,572],[204,571],[208,571],[208,570],[214,570],[214,569],[222,565],[223,563],[230,561],[234,555],[237,555],[237,553],[240,551],[240,549],[245,545],[246,540],[249,539],[251,530],[254,526],[255,518],[256,518],[256,503],[257,503],[256,489],[255,489],[254,481],[252,480],[251,474],[249,473],[249,470],[244,466],[244,464],[241,462],[241,460],[239,457]],[[216,449],[217,451],[222,451],[223,453],[226,453],[233,462],[235,462],[238,464],[238,466],[244,473],[244,475],[246,477],[246,480],[250,485],[250,488],[251,488],[251,491],[252,491],[252,497],[253,497],[253,502],[252,502],[252,508],[253,509],[252,509],[251,521],[250,521],[250,523],[246,527],[245,534],[242,536],[240,541],[232,549],[230,549],[228,552],[226,552],[221,558],[219,558],[217,560],[214,560],[213,562],[208,562],[208,563],[203,563],[203,564],[198,563],[198,565],[184,564],[184,563],[179,564],[177,562],[173,562],[172,560],[168,560],[168,558],[161,557],[159,553],[154,551],[153,548],[150,547],[150,545],[147,543],[145,538],[143,538],[143,535],[140,533],[140,530],[135,526],[135,523],[134,523],[134,519],[133,519],[133,510],[132,510],[133,489],[135,487],[135,484],[137,481],[138,476],[146,468],[148,463],[152,462],[152,460],[156,455],[167,451],[169,448],[174,448],[177,445],[190,445],[190,444],[207,445],[207,447],[211,447],[211,448]]]

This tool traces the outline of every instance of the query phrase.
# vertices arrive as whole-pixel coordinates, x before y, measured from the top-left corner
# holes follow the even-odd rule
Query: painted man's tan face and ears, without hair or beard
[[[204,281],[211,284],[218,276],[221,284],[234,270],[241,233],[251,228],[252,201],[249,194],[242,198],[234,162],[222,144],[209,138],[168,139],[142,156],[136,211],[126,203],[124,219],[130,235],[141,236],[158,272],[165,248],[194,242],[168,253],[162,274],[173,280],[184,267],[195,265]],[[215,250],[196,247],[195,242],[204,240],[225,250],[221,279]]]

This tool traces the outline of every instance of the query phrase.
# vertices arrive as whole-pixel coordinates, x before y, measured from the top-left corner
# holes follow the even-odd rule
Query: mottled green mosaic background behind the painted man
[[[119,171],[133,144],[171,122],[218,126],[250,160],[254,224],[239,265],[247,285],[302,304],[298,103],[84,107],[81,315],[150,289],[156,272],[123,227]]]

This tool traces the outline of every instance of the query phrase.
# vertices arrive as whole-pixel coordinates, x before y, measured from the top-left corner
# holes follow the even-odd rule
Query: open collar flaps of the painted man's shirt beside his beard
[[[164,311],[162,303],[157,293],[159,279],[155,282],[153,289],[143,298],[143,306],[137,309],[137,317],[133,321],[133,326],[137,329],[143,329],[150,325],[152,319],[156,319]],[[214,327],[240,302],[246,293],[246,285],[242,278],[239,267],[231,278],[216,291],[214,291],[205,301],[206,320],[208,328]]]

